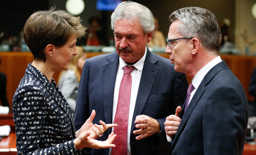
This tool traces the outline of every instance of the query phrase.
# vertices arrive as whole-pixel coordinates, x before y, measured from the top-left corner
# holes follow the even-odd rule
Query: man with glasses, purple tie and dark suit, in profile
[[[199,7],[174,11],[165,53],[192,78],[187,99],[165,121],[170,154],[243,154],[248,102],[240,81],[219,54],[215,16]]]

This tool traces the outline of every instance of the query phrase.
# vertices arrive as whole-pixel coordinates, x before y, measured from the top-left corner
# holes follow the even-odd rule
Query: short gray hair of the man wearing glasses
[[[211,11],[199,7],[187,7],[174,11],[169,20],[179,20],[178,33],[184,37],[195,37],[202,46],[219,55],[221,46],[221,30],[218,20]]]

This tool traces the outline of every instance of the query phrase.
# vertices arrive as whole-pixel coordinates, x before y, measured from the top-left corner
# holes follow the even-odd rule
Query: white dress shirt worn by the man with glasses
[[[194,78],[192,79],[192,84],[195,87],[195,89],[191,92],[190,95],[190,99],[189,99],[189,103],[191,101],[191,99],[193,98],[194,94],[196,93],[197,88],[199,87],[200,83],[202,82],[202,80],[204,79],[204,76],[218,63],[220,63],[221,57],[218,56],[216,58],[214,58],[213,60],[211,60],[208,64],[206,64],[203,68],[201,68],[196,75],[194,76]],[[168,142],[172,142],[172,139],[166,135]]]

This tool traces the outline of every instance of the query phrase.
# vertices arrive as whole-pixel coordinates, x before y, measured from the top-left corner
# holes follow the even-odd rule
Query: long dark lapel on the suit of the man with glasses
[[[224,60],[222,60],[222,62],[218,63],[217,65],[215,65],[212,69],[210,69],[210,71],[204,76],[204,79],[201,81],[199,87],[196,90],[196,93],[194,94],[193,98],[191,99],[189,106],[187,107],[186,112],[184,113],[184,108],[181,111],[181,115],[180,117],[182,117],[182,121],[179,124],[179,128],[177,130],[177,133],[174,137],[174,139],[172,140],[172,146],[174,145],[176,139],[179,137],[180,133],[182,132],[184,125],[186,124],[191,112],[193,111],[194,107],[196,106],[196,104],[198,103],[199,99],[201,98],[201,96],[203,95],[204,91],[205,91],[205,86],[211,81],[211,79],[221,70],[223,69],[227,69],[228,65],[226,64],[226,62]],[[186,102],[186,101],[185,101]],[[185,106],[185,105],[183,105]],[[183,114],[183,115],[182,115]]]

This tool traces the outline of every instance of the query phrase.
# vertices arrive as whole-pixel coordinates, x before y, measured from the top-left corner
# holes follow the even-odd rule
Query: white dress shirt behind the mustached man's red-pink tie
[[[131,96],[130,96],[130,107],[129,107],[129,119],[128,119],[128,130],[127,130],[127,144],[128,144],[128,155],[131,155],[131,148],[130,148],[130,132],[131,132],[131,126],[132,126],[132,120],[133,120],[133,112],[135,108],[135,102],[137,99],[137,94],[139,90],[140,85],[140,78],[142,74],[142,69],[144,66],[145,58],[147,54],[147,48],[145,47],[145,53],[143,57],[135,63],[134,66],[135,69],[131,72],[132,76],[132,87],[131,87]],[[115,89],[114,89],[114,98],[113,98],[113,115],[112,115],[112,123],[114,122],[115,115],[116,115],[116,107],[117,107],[117,101],[118,101],[118,95],[119,95],[119,88],[120,83],[123,77],[123,67],[126,66],[126,62],[124,62],[121,57],[119,57],[119,64],[117,68],[116,73],[116,83],[115,83]],[[129,65],[128,65],[129,66]],[[114,131],[114,127],[112,128],[112,132]],[[109,149],[109,155],[111,155],[112,149]]]

